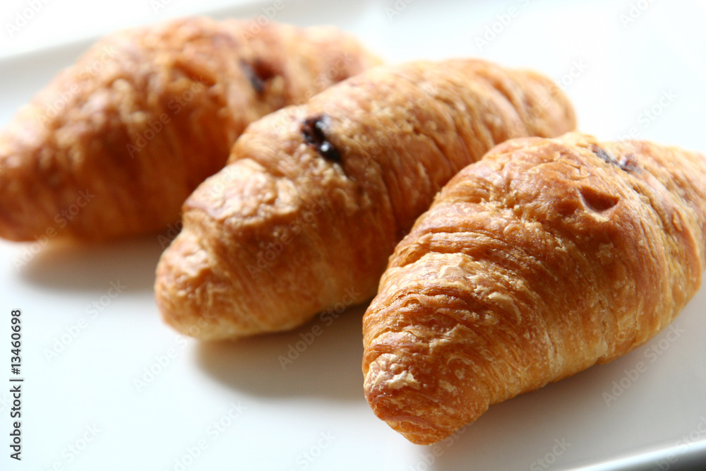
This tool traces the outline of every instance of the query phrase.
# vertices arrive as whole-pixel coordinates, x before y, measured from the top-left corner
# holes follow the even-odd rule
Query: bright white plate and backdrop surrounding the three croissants
[[[0,124],[97,36],[212,10],[258,16],[274,3],[162,0],[166,6],[155,11],[155,1],[40,0],[22,23],[18,14],[31,2],[3,0]],[[632,129],[639,138],[706,151],[703,1],[396,5],[285,0],[275,20],[339,25],[389,61],[481,56],[535,68],[563,84],[583,131],[609,140]],[[11,35],[8,23],[21,26]],[[616,362],[495,405],[462,436],[425,448],[376,419],[363,398],[364,306],[320,323],[323,334],[283,371],[277,357],[316,323],[234,344],[181,338],[162,324],[152,299],[160,251],[154,236],[102,246],[0,242],[0,470],[179,470],[177,460],[200,441],[205,448],[184,469],[609,469],[615,458],[638,456],[630,462],[649,470],[664,465],[656,461],[664,456],[647,452],[706,450],[699,431],[706,430],[703,290],[676,320],[678,335],[663,333]],[[23,257],[31,260],[18,264]],[[114,299],[111,283],[126,286]],[[92,303],[102,309],[97,316]],[[6,445],[11,309],[23,310],[21,463],[8,458]],[[47,358],[81,319],[85,328]],[[136,378],[146,382],[145,369],[159,370],[160,360],[162,371],[138,388]],[[631,379],[639,362],[647,370]],[[621,381],[627,388],[614,390]],[[619,394],[606,403],[612,393]],[[228,417],[233,404],[242,409],[237,419]],[[227,427],[217,431],[220,421]],[[687,462],[678,458],[669,469]]]

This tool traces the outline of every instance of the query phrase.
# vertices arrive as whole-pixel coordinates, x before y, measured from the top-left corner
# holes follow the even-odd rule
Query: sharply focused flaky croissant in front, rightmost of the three
[[[706,159],[568,133],[508,141],[438,194],[364,316],[364,390],[429,444],[667,326],[706,263]]]

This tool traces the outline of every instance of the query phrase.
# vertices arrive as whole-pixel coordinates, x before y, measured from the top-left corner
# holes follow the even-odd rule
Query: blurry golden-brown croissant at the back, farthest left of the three
[[[378,62],[325,27],[186,18],[106,37],[0,136],[0,237],[167,227],[247,124]]]

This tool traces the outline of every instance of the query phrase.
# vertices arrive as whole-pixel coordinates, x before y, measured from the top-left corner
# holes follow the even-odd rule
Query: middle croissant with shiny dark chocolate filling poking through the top
[[[556,85],[485,61],[376,67],[251,124],[184,204],[157,266],[167,323],[203,340],[370,299],[436,192],[496,143],[575,126]]]

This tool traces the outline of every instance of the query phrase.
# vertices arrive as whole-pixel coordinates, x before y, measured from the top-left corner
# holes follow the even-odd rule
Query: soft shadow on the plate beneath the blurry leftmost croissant
[[[104,292],[121,282],[131,292],[144,292],[152,290],[162,250],[153,235],[102,244],[58,241],[21,266],[19,275],[54,290]]]

